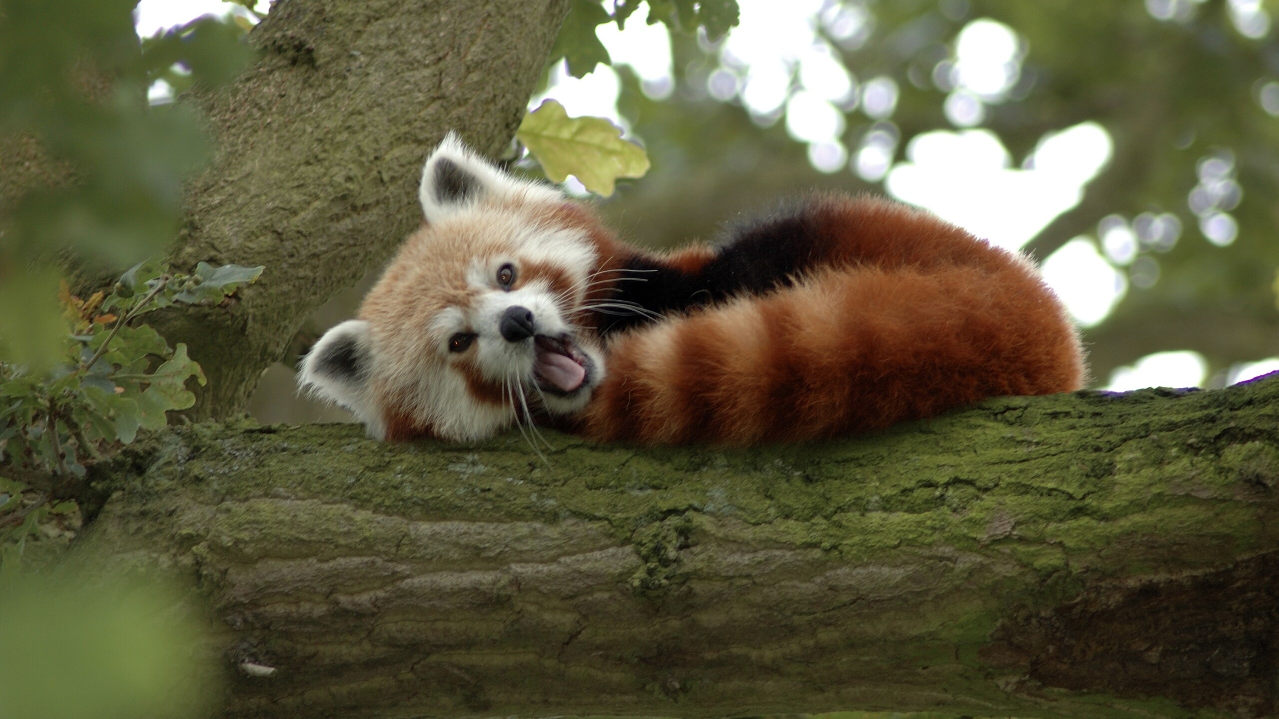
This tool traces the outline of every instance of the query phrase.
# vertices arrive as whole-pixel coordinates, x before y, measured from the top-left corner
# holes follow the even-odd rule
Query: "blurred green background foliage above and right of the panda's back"
[[[1157,19],[1147,10],[1164,5],[1178,15]],[[1117,262],[1134,281],[1111,316],[1085,333],[1100,383],[1117,365],[1165,349],[1202,353],[1216,381],[1232,363],[1279,354],[1279,119],[1260,104],[1262,92],[1279,93],[1267,84],[1279,79],[1273,28],[1244,36],[1227,0],[845,0],[828,3],[820,17],[842,9],[863,18],[859,32],[835,37],[819,20],[819,37],[857,81],[886,77],[899,88],[889,118],[868,116],[865,106],[844,113],[840,141],[854,156],[874,130],[897,139],[894,160],[903,161],[913,137],[957,129],[943,109],[953,90],[945,69],[959,32],[980,18],[1009,26],[1024,52],[1016,84],[986,104],[978,125],[999,136],[1013,166],[1045,133],[1086,120],[1110,133],[1114,156],[1082,202],[1027,246],[1042,260],[1077,235],[1096,241],[1109,215],[1138,230],[1137,258]],[[1267,0],[1264,9],[1279,12],[1279,3]],[[779,116],[752,119],[738,99],[711,97],[720,43],[678,33],[671,43],[677,90],[669,99],[646,96],[634,73],[619,68],[619,111],[652,160],[643,182],[619,186],[601,207],[624,233],[673,246],[812,188],[879,191],[848,169],[815,170]],[[739,69],[728,69],[741,78]],[[1188,205],[1204,162],[1214,157],[1230,164],[1224,179],[1242,188],[1242,201],[1228,198],[1223,207],[1239,226],[1227,247],[1204,237]],[[1179,238],[1143,237],[1145,219],[1164,214],[1179,219]]]

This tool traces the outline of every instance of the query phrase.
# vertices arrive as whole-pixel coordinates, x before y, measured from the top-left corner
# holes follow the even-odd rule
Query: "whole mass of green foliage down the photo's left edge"
[[[215,19],[141,40],[136,0],[0,0],[0,716],[198,716],[212,682],[171,587],[45,567],[81,527],[86,467],[162,427],[203,383],[139,317],[216,304],[261,267],[155,260],[178,237],[183,180],[210,143],[188,105],[251,59]],[[141,264],[138,264],[142,261]],[[68,270],[120,271],[68,290]]]

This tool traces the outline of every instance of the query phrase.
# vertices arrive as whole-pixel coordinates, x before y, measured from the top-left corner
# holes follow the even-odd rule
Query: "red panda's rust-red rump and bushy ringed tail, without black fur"
[[[1076,331],[1026,260],[893,202],[820,197],[810,212],[819,267],[613,338],[572,429],[643,444],[802,441],[1082,386]],[[597,242],[620,261],[624,246]],[[691,270],[710,257],[693,247],[659,261]]]

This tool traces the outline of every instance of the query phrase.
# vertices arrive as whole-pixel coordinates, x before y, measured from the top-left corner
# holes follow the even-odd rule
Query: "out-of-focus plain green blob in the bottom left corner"
[[[84,565],[0,578],[0,716],[205,716],[217,688],[174,587]]]

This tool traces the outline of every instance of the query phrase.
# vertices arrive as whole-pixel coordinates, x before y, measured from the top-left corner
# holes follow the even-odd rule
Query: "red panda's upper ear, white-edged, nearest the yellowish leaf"
[[[485,198],[518,197],[559,201],[563,196],[545,184],[521,180],[499,170],[449,132],[426,159],[418,198],[427,223],[464,211]]]

